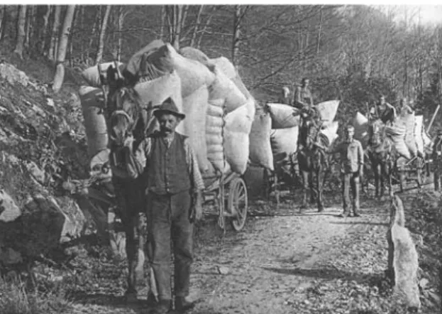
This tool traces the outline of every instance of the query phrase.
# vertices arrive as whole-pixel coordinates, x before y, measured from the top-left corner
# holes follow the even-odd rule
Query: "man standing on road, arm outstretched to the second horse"
[[[321,144],[315,145],[322,148],[327,153],[341,154],[341,178],[342,178],[342,198],[343,213],[341,217],[348,217],[350,210],[350,188],[353,196],[353,216],[359,217],[359,185],[360,178],[363,176],[364,168],[364,151],[360,141],[354,139],[355,127],[351,124],[346,126],[344,131],[345,139],[335,148],[327,149]]]

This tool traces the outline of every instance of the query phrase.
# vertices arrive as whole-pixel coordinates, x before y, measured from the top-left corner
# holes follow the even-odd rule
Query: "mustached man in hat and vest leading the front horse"
[[[201,219],[204,182],[187,136],[175,132],[185,115],[171,98],[162,102],[154,114],[160,131],[140,143],[134,158],[138,165],[133,165],[129,172],[137,177],[141,175],[137,166],[144,169],[152,243],[150,261],[159,299],[153,313],[162,314],[167,313],[172,304],[171,239],[175,258],[175,308],[184,311],[194,305],[186,297],[193,259],[193,222]]]

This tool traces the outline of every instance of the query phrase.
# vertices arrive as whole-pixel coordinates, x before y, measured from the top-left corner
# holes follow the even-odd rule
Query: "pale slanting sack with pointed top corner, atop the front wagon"
[[[209,86],[215,80],[215,75],[206,65],[198,61],[184,58],[167,43],[167,54],[172,62],[174,70],[181,79],[182,97],[187,97],[202,85]]]

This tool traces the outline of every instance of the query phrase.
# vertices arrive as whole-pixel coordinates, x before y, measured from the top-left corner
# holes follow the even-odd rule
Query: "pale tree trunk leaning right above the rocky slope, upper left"
[[[53,91],[58,92],[62,87],[63,79],[65,77],[65,62],[67,41],[69,40],[70,28],[74,18],[75,6],[67,6],[65,21],[62,26],[62,33],[60,36],[60,44],[58,45],[57,53],[57,68],[55,69]]]

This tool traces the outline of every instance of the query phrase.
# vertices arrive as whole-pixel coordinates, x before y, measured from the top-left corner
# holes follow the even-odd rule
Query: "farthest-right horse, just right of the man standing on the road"
[[[387,180],[389,193],[392,193],[392,175],[396,167],[397,151],[394,143],[385,134],[385,124],[375,119],[368,124],[368,158],[375,175],[375,197],[384,195],[384,180]]]

